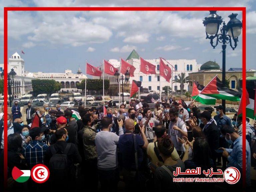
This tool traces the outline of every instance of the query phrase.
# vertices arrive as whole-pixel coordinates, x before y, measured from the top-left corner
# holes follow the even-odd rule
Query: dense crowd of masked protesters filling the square
[[[173,171],[177,167],[182,172],[196,167],[216,170],[219,166],[223,171],[236,167],[242,174],[242,134],[246,134],[246,184],[250,190],[256,123],[247,122],[243,133],[242,117],[235,114],[230,119],[221,105],[212,116],[210,107],[200,112],[194,102],[187,106],[174,98],[157,101],[154,110],[137,100],[131,101],[128,109],[124,104],[114,109],[106,102],[99,108],[79,106],[64,111],[48,104],[33,108],[29,103],[27,125],[17,108],[15,104],[12,114],[0,114],[1,168],[3,120],[7,118],[8,183],[12,190],[118,191],[119,181],[123,181],[124,191],[191,191],[200,187],[213,191],[216,183],[173,182]],[[38,127],[31,128],[38,117]],[[46,183],[13,182],[14,166],[27,170],[39,163],[50,170]],[[226,187],[239,189],[241,183],[242,179]]]

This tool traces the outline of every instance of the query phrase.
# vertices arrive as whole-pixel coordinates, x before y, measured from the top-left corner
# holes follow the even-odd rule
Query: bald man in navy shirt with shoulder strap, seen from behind
[[[137,159],[138,159],[138,168],[141,168],[143,161],[143,150],[147,149],[148,140],[145,135],[145,126],[140,127],[139,134],[133,134],[134,131],[134,120],[127,119],[125,120],[125,134],[119,136],[119,149],[122,153],[122,162],[123,162],[123,178],[125,181],[126,190],[130,191],[136,186],[136,166],[135,166],[135,150],[134,150],[134,140],[136,139],[136,148],[137,148]]]

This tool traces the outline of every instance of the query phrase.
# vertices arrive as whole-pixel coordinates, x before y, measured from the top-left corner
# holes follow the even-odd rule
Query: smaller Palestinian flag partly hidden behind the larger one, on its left
[[[215,105],[216,99],[207,95],[200,94],[200,88],[203,89],[204,87],[199,83],[193,83],[192,99],[205,105]]]

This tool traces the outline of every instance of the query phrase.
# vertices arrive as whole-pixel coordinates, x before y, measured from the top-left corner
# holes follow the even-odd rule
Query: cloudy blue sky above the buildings
[[[23,6],[245,6],[247,8],[247,69],[256,69],[256,1],[204,0],[0,0],[0,52],[3,53],[3,7]],[[218,14],[227,23],[230,11]],[[242,13],[237,18],[241,20]],[[213,49],[202,24],[209,12],[110,11],[110,12],[9,12],[8,57],[14,52],[31,72],[76,72],[86,60],[99,66],[102,59],[127,58],[135,49],[144,59],[216,60],[222,65],[221,45]],[[227,46],[226,64],[242,66],[242,40],[233,51]],[[3,63],[3,54],[0,54]]]

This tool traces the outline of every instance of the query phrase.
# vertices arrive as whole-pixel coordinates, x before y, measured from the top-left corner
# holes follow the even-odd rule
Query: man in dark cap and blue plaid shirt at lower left
[[[45,164],[45,151],[48,145],[42,142],[45,138],[45,128],[34,127],[29,130],[29,136],[32,141],[23,146],[23,156],[26,159],[26,163],[30,169],[36,164]]]

